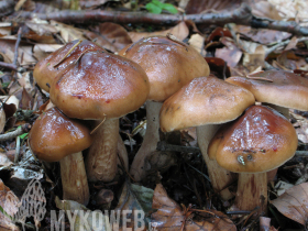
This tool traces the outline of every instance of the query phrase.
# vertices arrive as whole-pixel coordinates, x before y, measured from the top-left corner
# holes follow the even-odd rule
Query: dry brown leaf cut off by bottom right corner
[[[308,221],[308,183],[294,186],[271,202],[287,218],[305,226]]]

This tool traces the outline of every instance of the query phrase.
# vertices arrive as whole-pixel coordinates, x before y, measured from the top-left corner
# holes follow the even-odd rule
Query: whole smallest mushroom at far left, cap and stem
[[[38,160],[59,161],[63,198],[87,205],[90,195],[81,151],[92,143],[89,129],[51,108],[34,122],[29,142]]]

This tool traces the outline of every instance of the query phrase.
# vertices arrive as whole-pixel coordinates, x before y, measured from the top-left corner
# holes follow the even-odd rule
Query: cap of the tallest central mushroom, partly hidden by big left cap
[[[209,66],[193,47],[166,36],[142,38],[119,55],[136,62],[146,73],[148,100],[164,101],[193,78],[208,76]]]

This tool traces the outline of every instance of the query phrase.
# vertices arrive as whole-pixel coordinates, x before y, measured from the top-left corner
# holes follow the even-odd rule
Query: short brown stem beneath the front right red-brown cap
[[[239,174],[235,207],[240,210],[253,210],[260,207],[260,212],[267,208],[267,175],[266,173]],[[258,213],[260,213],[258,212]]]

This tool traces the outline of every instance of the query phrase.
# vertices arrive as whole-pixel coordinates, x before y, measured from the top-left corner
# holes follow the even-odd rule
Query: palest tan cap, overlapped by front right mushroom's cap
[[[161,129],[169,132],[224,123],[237,119],[253,103],[253,95],[244,88],[212,76],[195,78],[165,100],[161,110]]]

